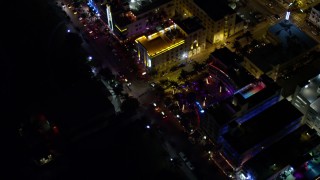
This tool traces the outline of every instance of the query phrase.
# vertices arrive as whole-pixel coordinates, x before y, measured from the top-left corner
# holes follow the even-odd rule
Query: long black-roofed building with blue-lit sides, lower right
[[[281,118],[278,116],[281,115]],[[303,114],[283,99],[222,135],[220,152],[239,168],[265,148],[301,126]]]

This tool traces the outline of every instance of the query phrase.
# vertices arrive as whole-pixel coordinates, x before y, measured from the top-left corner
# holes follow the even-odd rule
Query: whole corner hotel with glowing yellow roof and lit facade
[[[205,31],[199,23],[197,18],[188,18],[137,38],[139,60],[146,67],[156,69],[185,63],[205,49]]]

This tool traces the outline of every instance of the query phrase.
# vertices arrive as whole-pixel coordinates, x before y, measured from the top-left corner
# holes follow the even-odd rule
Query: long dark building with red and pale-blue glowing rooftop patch
[[[244,123],[253,116],[277,103],[281,88],[269,77],[259,80],[236,91],[236,93],[206,109],[206,117],[200,122],[204,131],[214,142],[221,142],[222,135],[230,130],[234,123]]]

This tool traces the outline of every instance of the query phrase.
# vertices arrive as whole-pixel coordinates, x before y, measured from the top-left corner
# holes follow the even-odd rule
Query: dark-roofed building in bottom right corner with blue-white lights
[[[315,179],[319,173],[320,137],[307,125],[248,160],[238,177],[250,179]],[[308,166],[308,167],[306,167]]]

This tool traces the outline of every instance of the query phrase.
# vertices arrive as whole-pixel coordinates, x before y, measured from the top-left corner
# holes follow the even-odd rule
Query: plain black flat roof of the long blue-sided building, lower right
[[[278,118],[280,114],[283,115]],[[242,154],[270,136],[276,135],[301,117],[302,113],[288,100],[283,99],[230,130],[223,137],[231,147]]]

